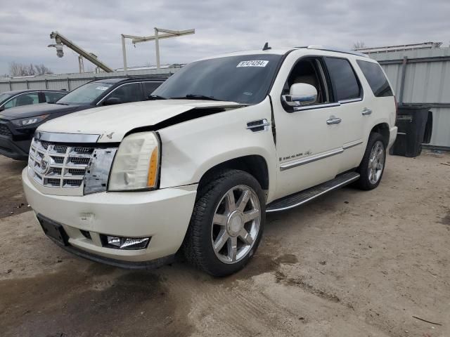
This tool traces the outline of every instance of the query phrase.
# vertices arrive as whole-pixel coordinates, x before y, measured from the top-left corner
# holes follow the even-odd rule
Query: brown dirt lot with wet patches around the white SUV
[[[24,164],[0,157],[0,334],[450,336],[445,162],[389,157],[376,190],[268,216],[248,267],[213,279],[184,263],[130,271],[71,256],[34,223]]]

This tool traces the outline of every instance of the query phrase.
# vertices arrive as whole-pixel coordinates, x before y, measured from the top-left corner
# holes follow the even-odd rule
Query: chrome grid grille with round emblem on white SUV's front
[[[39,185],[45,187],[81,187],[94,150],[94,147],[58,145],[33,140],[28,158],[30,175]]]

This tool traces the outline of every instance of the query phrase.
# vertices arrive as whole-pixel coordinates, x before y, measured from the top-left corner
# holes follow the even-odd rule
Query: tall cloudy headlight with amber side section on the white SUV
[[[158,185],[160,139],[154,132],[132,133],[120,143],[108,190],[148,190]]]

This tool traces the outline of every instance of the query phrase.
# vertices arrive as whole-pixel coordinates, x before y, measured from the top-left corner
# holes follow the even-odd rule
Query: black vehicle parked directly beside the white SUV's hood
[[[99,79],[76,88],[56,103],[4,110],[0,112],[0,154],[27,160],[34,131],[44,121],[92,107],[147,100],[166,79]]]

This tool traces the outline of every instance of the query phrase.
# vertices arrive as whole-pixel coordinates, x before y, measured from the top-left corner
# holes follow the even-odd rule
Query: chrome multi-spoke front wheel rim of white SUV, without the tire
[[[237,263],[247,256],[261,223],[259,199],[252,188],[238,185],[219,201],[212,220],[211,242],[223,263]]]

